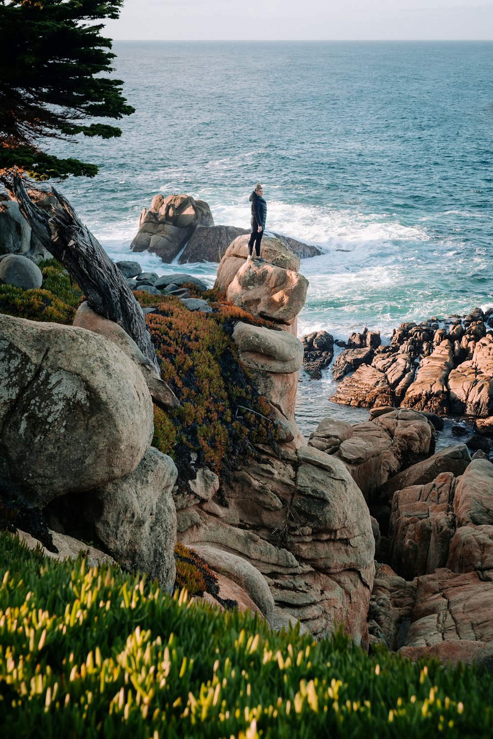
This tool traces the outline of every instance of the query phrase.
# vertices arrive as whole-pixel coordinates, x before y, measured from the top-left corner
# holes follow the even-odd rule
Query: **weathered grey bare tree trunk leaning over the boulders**
[[[52,205],[50,214],[32,202],[21,177],[15,176],[13,188],[21,213],[35,236],[77,282],[92,310],[119,324],[157,367],[156,353],[141,307],[123,274],[80,221],[69,202],[51,188],[57,202]]]

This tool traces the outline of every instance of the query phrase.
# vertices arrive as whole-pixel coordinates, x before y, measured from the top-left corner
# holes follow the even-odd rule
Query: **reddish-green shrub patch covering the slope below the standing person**
[[[157,307],[146,321],[162,378],[180,400],[177,409],[154,414],[154,446],[173,457],[179,484],[195,476],[190,453],[199,465],[227,475],[255,454],[255,443],[275,445],[277,425],[230,338],[237,314],[228,306],[190,312],[173,296],[136,295],[142,307]]]

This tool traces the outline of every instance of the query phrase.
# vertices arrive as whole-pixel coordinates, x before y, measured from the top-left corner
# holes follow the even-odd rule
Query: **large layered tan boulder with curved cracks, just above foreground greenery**
[[[365,500],[334,457],[308,447],[283,457],[263,449],[234,471],[212,500],[186,509],[180,538],[247,559],[276,607],[316,636],[337,621],[366,644],[375,545]]]

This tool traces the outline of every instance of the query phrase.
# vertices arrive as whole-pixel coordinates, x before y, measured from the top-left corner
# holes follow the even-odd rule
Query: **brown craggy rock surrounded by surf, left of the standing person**
[[[173,262],[199,225],[214,225],[209,205],[191,195],[154,196],[142,211],[132,251],[151,251],[163,262]]]

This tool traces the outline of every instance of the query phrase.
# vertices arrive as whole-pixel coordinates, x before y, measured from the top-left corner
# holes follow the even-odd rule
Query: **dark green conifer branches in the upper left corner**
[[[9,168],[36,180],[94,177],[97,166],[42,150],[44,137],[110,138],[121,129],[94,118],[120,119],[134,108],[112,72],[104,18],[118,18],[123,0],[0,0],[0,180]],[[103,73],[103,74],[102,74]]]

